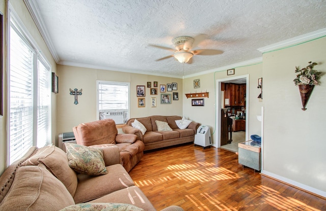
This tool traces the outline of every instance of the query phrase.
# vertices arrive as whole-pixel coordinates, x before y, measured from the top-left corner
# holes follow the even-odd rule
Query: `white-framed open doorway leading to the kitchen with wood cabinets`
[[[244,119],[245,121],[245,130],[244,131],[236,131],[236,132],[232,132],[232,142],[227,144],[227,145],[223,145],[221,146],[221,118],[222,115],[224,115],[224,113],[222,114],[221,110],[224,107],[224,92],[221,89],[221,84],[222,83],[232,83],[232,84],[246,84],[246,96],[245,96],[245,101],[246,104],[244,105],[244,110],[242,111],[242,115],[245,112],[246,113],[246,118]],[[226,78],[226,79],[219,79],[216,80],[216,128],[215,131],[218,131],[218,133],[216,134],[216,139],[218,140],[218,148],[223,148],[223,149],[227,149],[233,152],[237,152],[238,151],[238,143],[240,142],[244,142],[246,140],[248,140],[248,120],[249,120],[249,75],[243,75],[243,76],[237,76],[237,77],[231,77],[231,78]],[[232,108],[232,107],[231,107]],[[226,109],[226,108],[225,108]],[[228,108],[230,110],[230,107]],[[228,112],[229,114],[234,113],[234,118],[237,115],[236,112],[232,112],[232,110],[230,112]],[[234,121],[238,121],[238,120],[233,120]],[[233,128],[234,125],[232,124]],[[230,135],[229,135],[230,137]]]

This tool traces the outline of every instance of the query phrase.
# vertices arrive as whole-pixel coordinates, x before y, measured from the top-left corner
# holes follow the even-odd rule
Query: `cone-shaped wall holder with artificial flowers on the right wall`
[[[314,89],[315,85],[318,85],[318,79],[320,78],[320,72],[315,71],[313,67],[317,65],[316,62],[308,62],[309,65],[305,68],[299,69],[297,66],[295,66],[295,73],[299,73],[296,75],[296,78],[293,80],[295,86],[299,87],[300,96],[303,111],[306,111],[306,104],[309,100],[310,94],[312,90]]]

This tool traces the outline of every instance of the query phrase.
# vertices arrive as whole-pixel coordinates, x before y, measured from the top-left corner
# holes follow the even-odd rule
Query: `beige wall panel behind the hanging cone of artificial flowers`
[[[326,196],[326,37],[263,55],[264,171]],[[322,72],[302,111],[295,66]],[[305,188],[305,187],[304,187]]]

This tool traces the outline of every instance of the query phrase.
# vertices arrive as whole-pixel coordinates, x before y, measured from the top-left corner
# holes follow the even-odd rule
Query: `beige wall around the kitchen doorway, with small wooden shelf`
[[[257,96],[260,90],[257,89],[258,78],[262,77],[262,64],[252,64],[243,67],[235,67],[235,74],[227,76],[226,70],[222,72],[215,72],[205,74],[201,76],[191,77],[184,79],[183,91],[184,93],[197,92],[209,92],[209,98],[204,98],[204,107],[193,107],[191,105],[191,98],[183,96],[183,115],[191,120],[201,123],[202,125],[209,126],[212,133],[212,143],[214,146],[218,146],[218,128],[221,127],[219,121],[216,121],[216,109],[218,108],[218,102],[216,102],[216,96],[218,96],[218,87],[215,87],[216,80],[230,79],[233,77],[240,77],[249,75],[249,116],[247,121],[249,122],[248,134],[261,134],[261,123],[257,120],[256,116],[261,114],[262,102],[258,101]],[[200,88],[194,89],[194,80],[200,79]],[[215,129],[216,128],[216,129]]]

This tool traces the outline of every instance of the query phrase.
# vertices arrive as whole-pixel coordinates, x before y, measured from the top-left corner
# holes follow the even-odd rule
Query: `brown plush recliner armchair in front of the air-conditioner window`
[[[144,156],[144,143],[136,135],[118,134],[112,119],[82,123],[72,128],[78,145],[105,147],[116,145],[121,164],[129,172]]]

